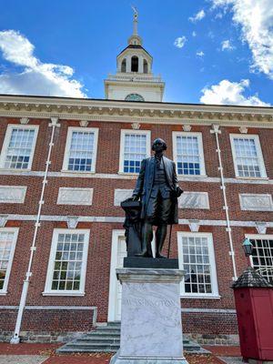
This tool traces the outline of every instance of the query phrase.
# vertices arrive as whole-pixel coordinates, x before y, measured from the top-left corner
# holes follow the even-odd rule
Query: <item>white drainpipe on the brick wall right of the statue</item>
[[[221,190],[223,192],[223,198],[224,198],[224,210],[226,212],[226,221],[227,221],[227,235],[228,235],[228,240],[229,240],[229,255],[231,257],[232,260],[232,267],[233,267],[233,278],[232,280],[237,280],[237,271],[236,271],[236,263],[235,263],[235,253],[234,253],[234,249],[233,249],[233,241],[232,241],[232,234],[231,234],[231,227],[230,227],[230,220],[229,220],[229,213],[228,213],[228,206],[227,206],[227,194],[226,194],[226,186],[225,186],[225,178],[224,178],[224,173],[223,173],[223,165],[222,165],[222,158],[221,158],[221,149],[219,147],[219,139],[218,139],[218,135],[221,134],[221,131],[219,130],[219,126],[217,125],[213,125],[212,126],[212,130],[210,130],[211,134],[215,134],[216,137],[216,142],[217,142],[217,156],[218,156],[218,163],[219,163],[219,167],[218,170],[220,171],[220,177],[221,177]]]

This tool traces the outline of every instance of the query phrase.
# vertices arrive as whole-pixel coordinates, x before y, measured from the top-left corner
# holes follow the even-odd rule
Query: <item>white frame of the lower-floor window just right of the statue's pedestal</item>
[[[185,278],[183,278],[180,283],[180,297],[181,298],[220,298],[218,294],[217,285],[217,269],[215,263],[215,253],[214,253],[214,243],[213,236],[211,233],[197,233],[197,232],[187,232],[187,231],[177,231],[177,244],[178,244],[178,261],[179,268],[183,270],[183,248],[182,248],[182,238],[183,237],[193,237],[193,238],[207,238],[207,248],[209,264],[211,269],[211,290],[212,293],[187,293],[185,292]]]

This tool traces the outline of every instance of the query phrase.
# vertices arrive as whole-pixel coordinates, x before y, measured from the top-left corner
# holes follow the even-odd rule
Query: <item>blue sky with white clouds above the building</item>
[[[0,0],[0,94],[104,98],[131,4],[163,101],[273,105],[273,0]]]

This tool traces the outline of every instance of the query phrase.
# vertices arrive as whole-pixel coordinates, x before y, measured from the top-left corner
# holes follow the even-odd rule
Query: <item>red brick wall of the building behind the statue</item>
[[[0,147],[5,137],[5,128],[7,124],[18,123],[15,118],[0,117]],[[56,127],[56,135],[54,138],[55,146],[52,150],[50,171],[60,172],[63,166],[64,152],[66,147],[66,134],[68,126],[79,126],[77,121],[61,120],[61,127]],[[48,144],[52,129],[48,127],[48,120],[31,119],[30,124],[39,125],[39,133],[35,146],[35,156],[33,161],[33,171],[44,171],[45,160],[48,152]],[[90,127],[98,127],[98,149],[96,158],[96,173],[116,174],[119,164],[119,140],[120,129],[131,129],[131,123],[111,123],[96,122],[89,123]],[[162,126],[162,125],[141,125],[141,129],[151,130],[152,139],[157,136],[163,137],[167,141],[167,157],[172,158],[172,131],[181,131],[181,126]],[[215,136],[209,132],[210,126],[193,126],[193,132],[202,132],[204,156],[206,164],[206,172],[208,177],[219,177],[217,169],[217,153]],[[222,150],[223,167],[225,177],[235,177],[233,159],[231,155],[231,147],[229,141],[229,133],[238,133],[238,127],[221,127],[222,134],[219,135],[220,148]],[[258,134],[260,144],[263,151],[263,157],[268,173],[268,177],[273,177],[272,164],[272,129],[248,129],[249,134]],[[133,188],[136,178],[98,178],[91,177],[48,177],[48,184],[45,188],[45,205],[42,207],[42,215],[58,215],[58,216],[97,216],[97,217],[123,217],[123,211],[120,207],[114,207],[114,190],[115,188]],[[0,185],[19,185],[27,186],[25,204],[0,204],[1,214],[20,214],[35,215],[38,209],[38,201],[40,198],[43,177],[30,176],[8,176],[0,175]],[[186,191],[206,191],[209,195],[209,210],[200,209],[184,209],[179,210],[180,218],[197,218],[225,220],[226,215],[223,210],[222,190],[219,182],[179,182],[179,185]],[[94,197],[92,206],[61,206],[56,205],[59,187],[93,187]],[[241,211],[239,207],[239,193],[269,193],[272,194],[273,185],[269,184],[235,184],[227,183],[227,204],[231,220],[240,221],[272,221],[273,214],[268,212]],[[15,248],[15,258],[9,279],[8,294],[0,296],[0,305],[15,306],[18,305],[25,272],[27,269],[28,259],[30,255],[29,248],[34,235],[35,221],[8,221],[6,226],[20,227],[19,236]],[[87,258],[86,271],[86,296],[85,297],[44,297],[42,292],[45,288],[45,278],[49,252],[51,248],[52,234],[56,227],[65,227],[66,223],[56,221],[42,221],[39,228],[33,262],[33,277],[27,297],[27,305],[54,305],[54,306],[97,306],[98,321],[106,321],[108,309],[108,289],[110,274],[110,252],[112,243],[112,230],[122,228],[122,224],[114,223],[79,223],[78,228],[90,229],[90,242]],[[177,231],[189,231],[188,226],[176,226],[173,229],[171,257],[177,257]],[[200,232],[211,232],[213,234],[216,265],[217,265],[217,284],[220,299],[182,299],[184,308],[234,308],[233,292],[230,288],[233,276],[231,258],[228,254],[229,242],[225,227],[207,227],[201,226]],[[248,265],[247,258],[244,257],[241,242],[244,234],[257,233],[253,227],[232,227],[232,237],[236,254],[236,263],[238,275]],[[268,233],[273,233],[273,229],[268,229]],[[167,244],[165,247],[167,250]],[[3,311],[2,311],[3,312]],[[29,311],[30,312],[30,311]],[[24,328],[35,329],[35,325],[39,326],[39,315],[31,311],[25,313]],[[33,316],[31,316],[33,314]],[[44,314],[43,314],[44,315]],[[53,313],[43,316],[43,327],[46,325],[54,328],[56,320],[62,318],[63,314],[58,313],[57,319],[54,319]],[[45,316],[46,316],[45,315]],[[53,316],[51,316],[53,315]],[[81,320],[85,321],[84,325],[90,324],[90,319],[86,319],[85,313],[73,313],[72,317],[77,318],[81,315]],[[207,322],[212,320],[210,314],[185,314],[184,327],[192,329],[202,329],[204,332],[209,327],[211,331],[234,333],[234,319],[220,319],[223,316],[213,314],[212,326]],[[232,316],[232,315],[231,315]],[[198,319],[196,319],[198,317]],[[202,318],[202,319],[200,319]],[[229,319],[230,320],[229,320]],[[6,328],[14,329],[15,313],[5,310]],[[1,319],[1,322],[3,320]],[[3,321],[3,322],[4,322]],[[198,321],[198,322],[197,322]],[[230,322],[229,322],[230,321]],[[64,324],[65,325],[65,324]],[[68,325],[68,324],[67,324]],[[2,323],[0,324],[2,327]],[[230,329],[230,328],[233,329]],[[45,328],[46,329],[46,328]],[[70,330],[72,326],[64,327]],[[235,330],[235,331],[234,331]],[[232,332],[231,332],[232,331]],[[206,331],[207,332],[207,331]]]

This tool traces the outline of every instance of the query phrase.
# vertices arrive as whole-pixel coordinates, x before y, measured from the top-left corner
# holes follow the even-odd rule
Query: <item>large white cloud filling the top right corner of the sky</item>
[[[251,69],[273,78],[272,0],[211,0],[213,7],[228,6],[233,21],[241,26],[242,40],[252,52]]]

